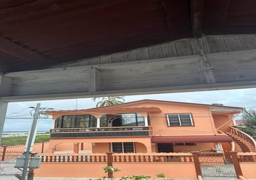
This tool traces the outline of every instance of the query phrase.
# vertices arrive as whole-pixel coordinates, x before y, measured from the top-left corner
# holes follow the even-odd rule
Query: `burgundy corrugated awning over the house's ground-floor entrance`
[[[225,135],[202,136],[153,136],[152,143],[220,143],[232,142],[232,138]]]

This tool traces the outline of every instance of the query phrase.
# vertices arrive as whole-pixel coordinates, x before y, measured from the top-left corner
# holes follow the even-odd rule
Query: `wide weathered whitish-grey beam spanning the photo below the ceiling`
[[[2,101],[53,100],[256,87],[256,50],[207,54],[214,68],[205,76],[202,56],[190,55],[93,66],[6,73],[12,79]]]

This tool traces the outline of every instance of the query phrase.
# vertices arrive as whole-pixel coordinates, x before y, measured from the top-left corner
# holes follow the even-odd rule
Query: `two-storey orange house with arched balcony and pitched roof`
[[[141,100],[85,110],[49,111],[54,153],[231,151],[239,107]],[[254,150],[255,151],[255,150]]]

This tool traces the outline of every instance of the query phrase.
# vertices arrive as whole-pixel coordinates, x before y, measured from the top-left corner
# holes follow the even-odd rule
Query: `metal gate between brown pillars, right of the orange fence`
[[[198,158],[202,176],[236,177],[230,154],[199,152]]]

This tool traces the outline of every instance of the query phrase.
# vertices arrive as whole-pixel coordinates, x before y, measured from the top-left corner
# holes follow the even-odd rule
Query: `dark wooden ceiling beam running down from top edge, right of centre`
[[[191,0],[191,27],[196,38],[202,37],[204,0]]]

